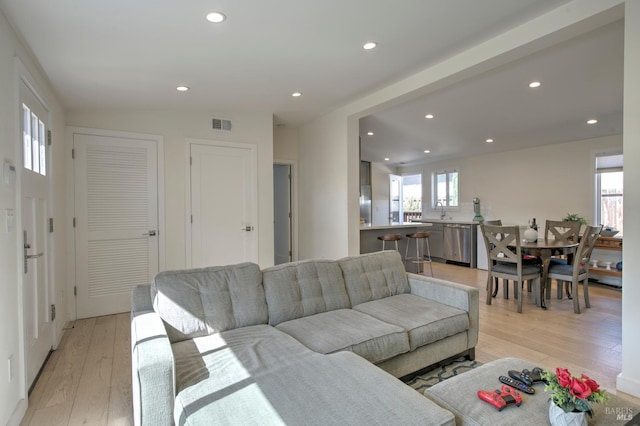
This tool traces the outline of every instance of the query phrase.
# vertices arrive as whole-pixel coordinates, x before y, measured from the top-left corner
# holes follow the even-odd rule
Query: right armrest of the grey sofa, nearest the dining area
[[[475,347],[478,343],[480,323],[478,289],[424,275],[407,273],[407,277],[409,278],[411,294],[468,312],[468,345],[469,348]]]

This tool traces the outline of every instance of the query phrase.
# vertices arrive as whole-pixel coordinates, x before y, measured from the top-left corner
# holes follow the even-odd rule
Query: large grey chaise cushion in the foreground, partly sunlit
[[[176,397],[176,425],[454,425],[450,412],[351,353],[313,354]]]

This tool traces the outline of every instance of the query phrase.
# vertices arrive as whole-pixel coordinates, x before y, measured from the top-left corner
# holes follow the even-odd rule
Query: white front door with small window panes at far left
[[[20,84],[23,162],[21,214],[23,256],[24,337],[27,386],[30,387],[53,346],[51,319],[53,292],[48,268],[47,221],[49,207],[48,111]]]

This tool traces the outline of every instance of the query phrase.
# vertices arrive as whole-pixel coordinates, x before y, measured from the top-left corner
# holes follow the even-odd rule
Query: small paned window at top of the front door
[[[42,120],[25,104],[22,104],[22,129],[24,168],[46,176],[46,129]]]

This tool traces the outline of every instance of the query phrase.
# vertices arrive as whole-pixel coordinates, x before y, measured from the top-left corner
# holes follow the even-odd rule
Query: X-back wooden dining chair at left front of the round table
[[[480,224],[480,229],[487,248],[487,305],[491,304],[493,297],[493,280],[496,278],[511,280],[514,282],[518,312],[521,313],[524,298],[523,284],[532,280],[535,294],[540,294],[540,267],[523,264],[520,227],[483,223]]]

